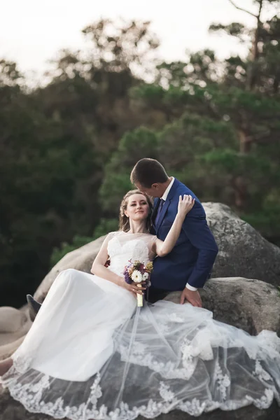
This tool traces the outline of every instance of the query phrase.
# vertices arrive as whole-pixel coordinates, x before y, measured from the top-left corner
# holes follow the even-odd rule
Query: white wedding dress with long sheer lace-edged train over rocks
[[[148,262],[155,237],[109,234],[109,269]],[[55,419],[132,420],[172,409],[280,405],[280,339],[248,335],[207,309],[161,300],[137,307],[125,288],[75,269],[61,272],[13,366],[1,377],[29,412]]]

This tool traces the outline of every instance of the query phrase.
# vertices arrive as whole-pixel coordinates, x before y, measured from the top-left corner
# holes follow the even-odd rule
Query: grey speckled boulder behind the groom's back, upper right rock
[[[219,248],[212,277],[241,276],[280,286],[280,248],[225,204],[208,202],[203,207]]]

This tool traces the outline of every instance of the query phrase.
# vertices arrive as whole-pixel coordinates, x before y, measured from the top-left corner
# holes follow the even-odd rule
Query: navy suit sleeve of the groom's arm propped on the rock
[[[186,216],[183,232],[198,251],[197,262],[188,279],[188,285],[195,288],[203,287],[211,275],[218,246],[207,225],[205,212],[200,204],[195,204],[195,207]]]

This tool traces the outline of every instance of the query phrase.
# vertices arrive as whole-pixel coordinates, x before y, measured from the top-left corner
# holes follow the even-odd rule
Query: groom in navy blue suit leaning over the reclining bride
[[[179,196],[188,194],[195,198],[195,205],[186,216],[174,249],[165,257],[155,258],[149,300],[155,302],[172,290],[182,290],[181,304],[188,300],[193,306],[202,307],[197,289],[209,279],[218,253],[202,204],[188,187],[168,176],[158,160],[139,160],[132,170],[130,181],[142,193],[155,197],[152,233],[162,241],[176,217]]]

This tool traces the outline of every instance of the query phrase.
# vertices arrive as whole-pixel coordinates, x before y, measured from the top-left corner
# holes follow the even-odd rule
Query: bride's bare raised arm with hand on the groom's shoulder
[[[183,226],[183,221],[185,220],[188,212],[191,209],[193,209],[194,204],[195,199],[191,195],[184,195],[183,197],[180,195],[178,213],[176,214],[176,218],[172,224],[172,228],[169,230],[165,241],[161,241],[158,238],[155,239],[153,251],[159,257],[164,257],[174,248],[174,245],[176,244],[176,241],[179,238]]]

